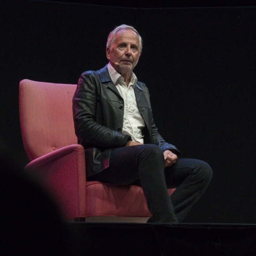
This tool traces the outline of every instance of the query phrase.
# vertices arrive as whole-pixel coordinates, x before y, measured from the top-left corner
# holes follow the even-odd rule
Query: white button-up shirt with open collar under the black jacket
[[[121,97],[124,99],[124,120],[122,133],[132,137],[132,141],[143,143],[142,129],[145,122],[137,107],[134,94],[134,86],[137,82],[136,75],[132,72],[132,79],[129,85],[124,82],[124,78],[108,64],[109,75],[112,82],[116,85]],[[111,114],[111,113],[110,113]]]

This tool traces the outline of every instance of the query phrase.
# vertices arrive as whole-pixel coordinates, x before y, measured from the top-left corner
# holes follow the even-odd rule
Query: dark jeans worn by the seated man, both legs
[[[178,158],[164,168],[162,150],[153,144],[115,148],[109,168],[90,177],[113,184],[138,184],[142,187],[150,222],[181,222],[202,196],[212,177],[211,167],[196,159]],[[167,188],[177,188],[169,196]]]

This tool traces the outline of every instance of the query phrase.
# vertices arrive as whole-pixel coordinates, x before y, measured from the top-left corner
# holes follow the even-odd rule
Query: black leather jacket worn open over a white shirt
[[[158,133],[151,113],[150,95],[144,83],[134,87],[136,102],[145,121],[144,143],[162,151],[180,152]],[[109,166],[111,149],[124,147],[131,137],[123,134],[124,100],[112,82],[107,66],[84,72],[73,97],[73,117],[78,143],[85,148],[87,177]]]

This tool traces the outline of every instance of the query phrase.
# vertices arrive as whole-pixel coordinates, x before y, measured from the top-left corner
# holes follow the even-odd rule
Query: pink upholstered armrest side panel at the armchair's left
[[[86,214],[86,173],[82,145],[73,144],[31,161],[25,171],[49,192],[64,219]]]

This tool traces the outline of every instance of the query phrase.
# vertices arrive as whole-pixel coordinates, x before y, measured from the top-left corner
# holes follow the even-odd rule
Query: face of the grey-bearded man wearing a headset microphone
[[[107,58],[111,65],[121,75],[132,72],[138,63],[139,56],[139,37],[129,29],[119,30],[116,34],[116,41],[111,46],[111,49],[106,49]],[[119,65],[114,63],[118,62]]]

